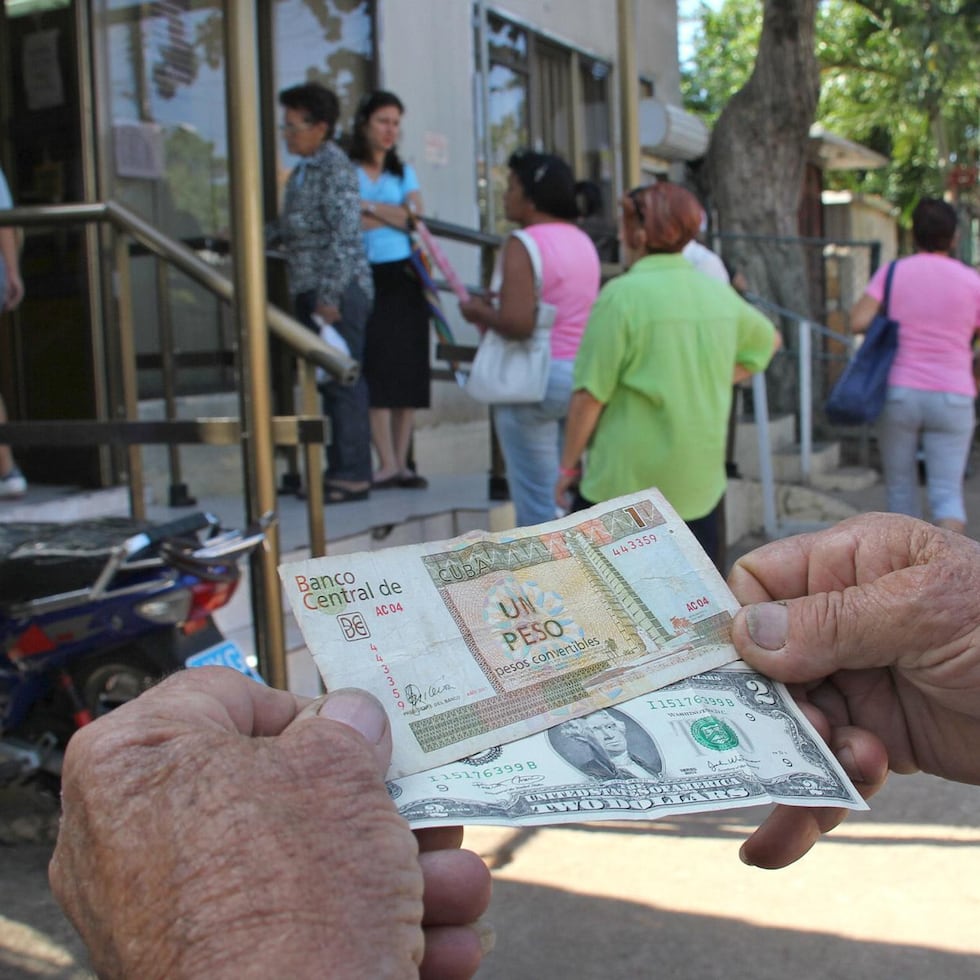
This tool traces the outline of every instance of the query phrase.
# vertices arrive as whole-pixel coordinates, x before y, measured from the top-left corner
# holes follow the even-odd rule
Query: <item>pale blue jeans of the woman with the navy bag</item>
[[[969,395],[890,386],[878,420],[888,509],[922,516],[917,466],[921,436],[932,519],[965,521],[963,475],[975,424]]]

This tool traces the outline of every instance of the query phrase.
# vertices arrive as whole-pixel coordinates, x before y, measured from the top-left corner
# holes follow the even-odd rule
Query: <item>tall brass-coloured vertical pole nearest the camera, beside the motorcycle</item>
[[[259,172],[258,32],[255,5],[225,0],[228,62],[228,156],[231,161],[231,223],[234,244],[235,314],[241,360],[240,414],[245,467],[245,503],[250,521],[276,509],[272,439],[269,333],[266,324],[265,243]],[[285,689],[286,640],[282,590],[276,566],[279,528],[270,525],[265,546],[252,556],[250,582],[259,670],[273,687]]]

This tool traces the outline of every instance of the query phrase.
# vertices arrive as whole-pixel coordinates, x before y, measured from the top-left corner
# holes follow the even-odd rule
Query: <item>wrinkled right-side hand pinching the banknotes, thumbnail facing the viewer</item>
[[[739,655],[791,686],[866,798],[889,769],[980,783],[980,544],[864,514],[759,548],[729,585],[762,603],[735,617]],[[846,813],[777,807],[742,858],[790,864]]]

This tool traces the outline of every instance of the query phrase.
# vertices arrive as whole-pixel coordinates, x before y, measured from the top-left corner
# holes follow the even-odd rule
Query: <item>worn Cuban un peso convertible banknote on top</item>
[[[327,689],[364,688],[386,706],[392,777],[735,659],[737,604],[654,490],[280,575]]]

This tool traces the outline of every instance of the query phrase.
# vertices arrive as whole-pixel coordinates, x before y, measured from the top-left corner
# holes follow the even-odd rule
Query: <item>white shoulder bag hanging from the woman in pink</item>
[[[541,300],[541,253],[527,232],[511,234],[527,249],[531,259],[537,310],[534,330],[524,340],[502,337],[495,330],[487,330],[480,339],[465,391],[489,405],[541,401],[551,368],[551,326],[556,311],[551,303]]]

